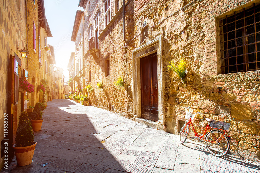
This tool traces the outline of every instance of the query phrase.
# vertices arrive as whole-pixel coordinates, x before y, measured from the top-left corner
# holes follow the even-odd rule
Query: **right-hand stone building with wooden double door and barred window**
[[[79,1],[85,9],[85,77],[94,88],[92,105],[174,134],[190,106],[231,123],[231,151],[259,160],[259,1],[129,0],[125,25],[122,5]],[[169,61],[181,58],[186,85],[167,69]],[[122,88],[112,85],[118,76]],[[203,117],[194,119],[198,132],[205,123]]]

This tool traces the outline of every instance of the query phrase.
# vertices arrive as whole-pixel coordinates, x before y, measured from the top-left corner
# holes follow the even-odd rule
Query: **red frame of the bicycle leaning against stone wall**
[[[186,123],[186,126],[185,126],[184,129],[186,129],[187,125],[190,126],[190,124],[191,124],[191,126],[192,126],[193,132],[194,132],[194,134],[195,134],[196,137],[198,137],[198,138],[200,138],[200,139],[202,139],[202,140],[204,140],[204,141],[213,143],[213,144],[216,144],[219,140],[222,140],[222,139],[224,138],[224,135],[225,135],[225,134],[228,135],[228,132],[227,132],[226,130],[209,127],[209,124],[207,124],[206,129],[205,129],[203,135],[202,135],[202,136],[199,136],[198,133],[196,132],[196,130],[195,130],[195,128],[194,128],[192,122],[191,122],[191,118],[189,119],[189,122]],[[208,129],[217,129],[217,130],[220,130],[221,132],[224,132],[224,133],[223,133],[222,136],[220,136],[218,139],[216,139],[216,137],[211,133],[211,130],[209,130],[209,132],[210,132],[211,135],[213,136],[214,142],[212,142],[212,141],[209,141],[209,140],[206,140],[206,139],[203,138],[203,137],[205,136],[205,134],[206,134],[206,132],[207,132]]]

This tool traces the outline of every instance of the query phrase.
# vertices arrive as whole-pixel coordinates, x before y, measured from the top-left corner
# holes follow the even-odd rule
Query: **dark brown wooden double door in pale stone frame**
[[[157,53],[140,59],[141,118],[158,121]]]

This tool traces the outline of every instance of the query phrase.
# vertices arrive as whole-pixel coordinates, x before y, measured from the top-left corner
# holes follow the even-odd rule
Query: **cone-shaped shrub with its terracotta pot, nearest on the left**
[[[17,164],[19,166],[26,166],[32,163],[37,142],[34,141],[33,129],[31,127],[28,114],[23,111],[20,115],[13,148],[15,151]]]

